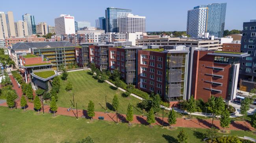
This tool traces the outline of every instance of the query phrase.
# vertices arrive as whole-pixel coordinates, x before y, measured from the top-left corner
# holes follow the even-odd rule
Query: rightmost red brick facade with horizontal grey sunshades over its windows
[[[215,63],[215,56],[207,55],[207,53],[213,53],[213,51],[196,50],[194,52],[191,95],[194,95],[195,99],[202,98],[205,102],[211,95],[229,99],[228,84],[231,64]],[[215,70],[213,67],[223,70]],[[222,85],[216,85],[216,83]],[[210,89],[221,91],[221,93]]]

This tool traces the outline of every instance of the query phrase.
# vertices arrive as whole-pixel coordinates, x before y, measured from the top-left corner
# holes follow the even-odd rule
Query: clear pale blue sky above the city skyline
[[[35,16],[36,24],[54,25],[60,14],[74,16],[75,21],[89,21],[105,16],[107,7],[132,9],[135,15],[146,16],[146,31],[186,31],[187,10],[211,3],[227,3],[225,29],[242,29],[243,22],[256,19],[256,0],[3,0],[0,11],[13,11],[14,20],[22,15]]]

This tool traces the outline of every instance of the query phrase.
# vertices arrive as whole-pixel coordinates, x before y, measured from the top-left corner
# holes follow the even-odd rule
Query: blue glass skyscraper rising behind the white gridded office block
[[[105,10],[106,14],[106,32],[118,32],[117,17],[132,13],[130,9],[119,9],[114,7],[108,7]]]

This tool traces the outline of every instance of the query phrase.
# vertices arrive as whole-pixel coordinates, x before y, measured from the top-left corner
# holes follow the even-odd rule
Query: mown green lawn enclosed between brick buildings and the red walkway
[[[65,86],[68,82],[73,84],[73,89],[70,92],[65,90]],[[92,77],[89,71],[77,71],[69,72],[67,81],[61,80],[61,88],[58,93],[59,99],[57,101],[58,106],[70,107],[73,100],[72,94],[74,93],[74,100],[77,103],[78,109],[87,109],[89,100],[95,104],[95,111],[105,111],[106,101],[105,96],[107,95],[107,106],[108,112],[114,112],[112,109],[112,99],[115,94],[119,96],[120,107],[118,112],[126,114],[126,109],[129,103],[132,103],[135,107],[141,100],[135,97],[122,97],[120,90],[117,91],[113,86],[107,83],[98,83],[96,79]],[[100,106],[102,105],[104,109]],[[136,107],[137,108],[137,107]],[[134,114],[141,114],[141,109],[136,110],[134,108]]]

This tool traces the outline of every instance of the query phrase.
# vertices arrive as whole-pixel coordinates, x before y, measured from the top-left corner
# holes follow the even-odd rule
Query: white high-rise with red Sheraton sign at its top
[[[56,35],[75,34],[74,16],[60,15],[54,19]]]

